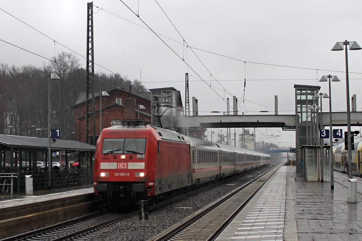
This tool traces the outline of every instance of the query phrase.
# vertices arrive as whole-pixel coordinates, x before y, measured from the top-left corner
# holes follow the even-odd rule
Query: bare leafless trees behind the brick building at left
[[[48,128],[48,82],[51,73],[60,80],[50,80],[50,120],[52,129],[61,129],[62,139],[73,139],[74,112],[79,94],[87,90],[87,69],[81,68],[72,53],[61,52],[44,63],[9,66],[0,63],[0,134],[46,138]],[[135,79],[117,74],[94,73],[95,93],[115,87],[143,92],[147,89]],[[37,130],[43,129],[43,130]]]

